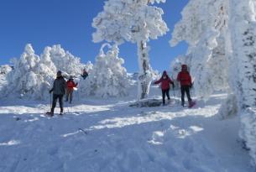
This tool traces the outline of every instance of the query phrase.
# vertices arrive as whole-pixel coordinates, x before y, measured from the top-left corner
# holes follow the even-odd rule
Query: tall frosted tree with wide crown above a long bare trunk
[[[152,69],[149,65],[149,39],[157,39],[168,31],[161,8],[149,3],[165,3],[165,0],[108,0],[104,10],[93,19],[94,42],[107,40],[115,44],[125,41],[138,47],[138,98],[149,95]]]

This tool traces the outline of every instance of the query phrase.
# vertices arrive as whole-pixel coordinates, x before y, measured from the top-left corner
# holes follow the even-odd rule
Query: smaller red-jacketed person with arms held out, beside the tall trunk
[[[166,71],[163,72],[163,75],[159,79],[159,81],[154,82],[154,84],[159,84],[159,83],[161,83],[163,105],[165,105],[165,94],[166,94],[168,100],[170,100],[170,95],[169,95],[170,84],[172,85],[173,88],[175,87],[175,84],[173,81],[170,80],[170,77],[167,75]]]

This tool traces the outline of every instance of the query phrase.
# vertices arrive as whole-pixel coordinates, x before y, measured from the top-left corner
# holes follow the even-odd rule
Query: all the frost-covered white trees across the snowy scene
[[[36,55],[27,44],[19,59],[13,59],[4,96],[46,99],[57,70],[65,77],[89,76],[80,81],[81,94],[127,96],[129,78],[118,56],[125,42],[138,47],[138,99],[147,98],[153,80],[149,63],[149,40],[169,29],[164,11],[156,3],[165,0],[108,0],[92,21],[95,43],[103,42],[95,64],[82,64],[60,45],[46,47]],[[227,91],[220,114],[241,118],[240,137],[256,164],[256,2],[254,0],[190,0],[172,31],[170,45],[185,41],[189,48],[171,62],[173,78],[181,64],[189,66],[198,99],[207,100],[214,91]],[[171,16],[170,16],[171,18]],[[105,43],[107,41],[107,44]],[[104,51],[107,48],[107,51]],[[154,49],[154,47],[151,47]],[[135,53],[135,52],[134,52]],[[134,60],[135,61],[135,60]]]

